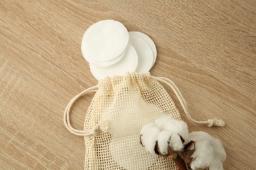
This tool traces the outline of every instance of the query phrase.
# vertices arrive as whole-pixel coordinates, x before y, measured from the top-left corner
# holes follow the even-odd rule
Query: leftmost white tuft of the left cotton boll
[[[146,124],[140,130],[140,142],[142,146],[145,147],[147,152],[156,154],[154,149],[156,146],[156,141],[158,141],[159,133],[160,129],[158,129],[154,123]]]

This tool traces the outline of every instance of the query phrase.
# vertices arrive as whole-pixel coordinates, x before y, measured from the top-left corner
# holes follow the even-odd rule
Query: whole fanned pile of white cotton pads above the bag
[[[85,31],[81,44],[97,80],[137,71],[147,73],[156,62],[156,45],[144,33],[128,32],[123,24],[102,20]]]

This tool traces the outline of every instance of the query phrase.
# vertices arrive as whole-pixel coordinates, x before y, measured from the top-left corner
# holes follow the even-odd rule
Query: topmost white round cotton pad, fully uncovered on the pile
[[[84,58],[97,64],[119,57],[127,47],[129,34],[123,24],[102,20],[91,25],[83,35],[81,44]]]

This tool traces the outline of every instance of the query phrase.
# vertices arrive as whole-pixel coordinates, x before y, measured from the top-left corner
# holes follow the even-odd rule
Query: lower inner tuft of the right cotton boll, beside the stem
[[[198,141],[195,144],[196,150],[192,154],[194,160],[191,162],[190,167],[193,170],[202,168],[205,169],[211,165],[215,159],[214,150],[209,141]]]

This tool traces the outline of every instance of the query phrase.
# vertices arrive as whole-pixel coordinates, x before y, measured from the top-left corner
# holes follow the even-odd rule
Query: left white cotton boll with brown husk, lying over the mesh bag
[[[170,156],[181,151],[188,142],[188,126],[171,115],[163,115],[140,131],[140,142],[152,154]]]

